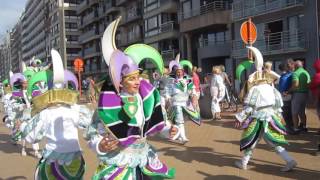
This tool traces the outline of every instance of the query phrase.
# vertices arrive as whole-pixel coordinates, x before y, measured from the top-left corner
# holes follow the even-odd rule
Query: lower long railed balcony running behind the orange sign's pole
[[[247,49],[241,40],[232,44],[232,57],[239,59],[247,56]],[[254,46],[263,55],[304,52],[308,48],[308,38],[300,30],[271,33],[268,37],[258,39]]]

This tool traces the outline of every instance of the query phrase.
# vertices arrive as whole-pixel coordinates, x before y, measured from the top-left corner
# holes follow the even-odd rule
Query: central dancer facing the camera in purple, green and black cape
[[[158,62],[162,57],[145,44],[131,45],[124,52],[117,50],[114,35],[119,21],[120,17],[110,23],[102,38],[112,81],[105,81],[87,131],[89,146],[100,160],[92,179],[174,178],[175,170],[159,160],[146,138],[159,132],[173,136],[178,129],[166,126],[159,92],[140,79],[138,70],[141,60]]]

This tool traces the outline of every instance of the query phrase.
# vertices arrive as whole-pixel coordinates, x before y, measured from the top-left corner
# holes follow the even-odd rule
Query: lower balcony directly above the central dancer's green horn
[[[160,25],[158,29],[145,32],[144,42],[149,44],[162,39],[177,38],[179,36],[178,24],[175,21],[168,21]]]

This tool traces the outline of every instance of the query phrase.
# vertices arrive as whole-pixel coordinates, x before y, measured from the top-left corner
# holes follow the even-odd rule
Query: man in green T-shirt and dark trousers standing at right
[[[303,68],[301,61],[295,62],[296,70],[292,74],[291,88],[285,94],[292,93],[291,112],[293,120],[293,134],[300,131],[307,132],[306,105],[308,100],[308,86],[310,83],[310,75]],[[299,124],[300,120],[300,124]]]

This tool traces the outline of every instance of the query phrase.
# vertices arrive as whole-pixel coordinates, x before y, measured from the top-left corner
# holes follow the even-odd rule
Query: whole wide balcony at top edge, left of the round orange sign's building
[[[188,32],[215,24],[231,23],[231,5],[225,1],[215,1],[180,14],[180,31]]]

